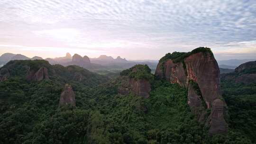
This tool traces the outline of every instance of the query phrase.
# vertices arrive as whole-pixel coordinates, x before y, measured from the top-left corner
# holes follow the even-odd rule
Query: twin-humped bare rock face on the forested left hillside
[[[35,70],[28,69],[28,72],[27,72],[28,81],[42,81],[46,79],[49,79],[49,74],[46,67],[41,67],[37,72]]]

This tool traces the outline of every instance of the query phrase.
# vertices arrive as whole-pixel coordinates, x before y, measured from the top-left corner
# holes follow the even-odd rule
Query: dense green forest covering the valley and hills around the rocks
[[[50,79],[27,81],[24,65],[42,64],[50,70]],[[256,143],[255,84],[221,81],[229,132],[210,136],[209,127],[196,120],[187,104],[187,89],[152,75],[146,76],[153,82],[150,97],[144,99],[120,95],[116,80],[78,66],[11,61],[4,67],[12,72],[0,82],[0,144]],[[77,72],[84,81],[73,80]],[[73,87],[76,107],[59,106],[65,83]]]

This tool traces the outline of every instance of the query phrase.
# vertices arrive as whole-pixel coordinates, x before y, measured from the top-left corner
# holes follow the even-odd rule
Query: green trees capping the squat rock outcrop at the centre
[[[130,78],[135,78],[136,80],[153,80],[154,76],[151,73],[151,69],[145,64],[137,64],[127,70],[120,72],[120,76],[129,76]]]

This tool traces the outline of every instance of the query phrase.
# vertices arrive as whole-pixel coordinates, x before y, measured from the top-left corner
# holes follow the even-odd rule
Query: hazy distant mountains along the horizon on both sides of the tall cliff
[[[0,66],[3,66],[5,63],[10,60],[43,60],[42,57],[34,56],[29,58],[22,54],[11,54],[5,53],[0,56]],[[46,58],[51,64],[61,64],[64,66],[67,65],[79,65],[86,69],[127,69],[136,64],[147,64],[152,71],[154,72],[157,66],[158,61],[154,60],[132,60],[128,61],[125,58],[118,56],[113,58],[112,56],[101,55],[98,58],[89,58],[88,56],[81,56],[79,54],[74,54],[73,56],[69,53],[66,53],[64,57],[55,57],[55,58]],[[219,68],[221,73],[233,72],[238,65],[246,63],[249,61],[255,61],[256,59],[231,59],[218,61]]]

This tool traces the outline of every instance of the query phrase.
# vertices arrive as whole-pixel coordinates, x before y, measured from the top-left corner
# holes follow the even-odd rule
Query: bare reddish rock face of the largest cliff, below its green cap
[[[184,58],[184,64],[185,66],[182,62],[174,63],[173,60],[158,63],[155,75],[184,87],[188,87],[189,80],[195,81],[207,108],[210,108],[213,100],[220,96],[218,63],[210,54],[196,53]]]

